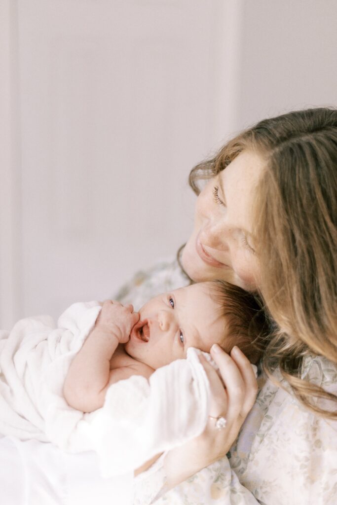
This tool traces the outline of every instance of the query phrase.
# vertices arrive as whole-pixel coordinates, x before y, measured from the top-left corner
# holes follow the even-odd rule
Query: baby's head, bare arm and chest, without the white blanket
[[[263,325],[253,295],[222,281],[163,293],[139,313],[132,305],[105,301],[70,365],[64,396],[71,407],[92,412],[104,405],[112,384],[133,375],[149,378],[158,368],[186,358],[188,347],[209,352],[218,343],[230,352],[237,345],[256,363]]]

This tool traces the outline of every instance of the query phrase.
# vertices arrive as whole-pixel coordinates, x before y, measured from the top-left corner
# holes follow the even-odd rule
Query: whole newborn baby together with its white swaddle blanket
[[[106,301],[74,304],[57,325],[23,319],[0,331],[0,434],[92,450],[102,475],[132,478],[205,429],[209,383],[194,348],[237,345],[256,363],[264,324],[255,298],[222,281],[164,293],[139,313]]]

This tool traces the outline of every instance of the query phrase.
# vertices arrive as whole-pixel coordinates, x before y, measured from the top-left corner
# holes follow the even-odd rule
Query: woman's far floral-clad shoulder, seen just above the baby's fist
[[[132,304],[138,310],[149,299],[166,291],[189,284],[176,259],[158,261],[153,267],[139,270],[114,296],[122,304]]]

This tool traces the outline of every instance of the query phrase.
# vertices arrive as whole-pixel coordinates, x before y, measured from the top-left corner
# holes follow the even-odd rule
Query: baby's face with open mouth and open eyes
[[[186,358],[188,347],[209,352],[225,332],[220,314],[208,282],[163,293],[140,309],[139,322],[132,328],[125,350],[155,370]]]

